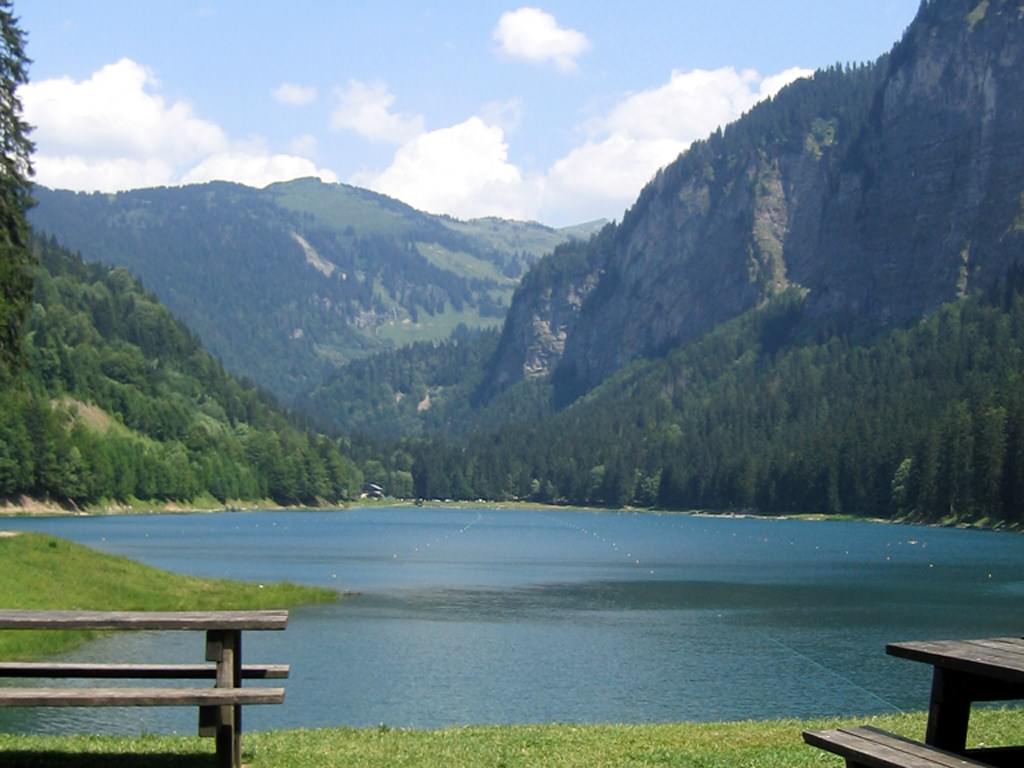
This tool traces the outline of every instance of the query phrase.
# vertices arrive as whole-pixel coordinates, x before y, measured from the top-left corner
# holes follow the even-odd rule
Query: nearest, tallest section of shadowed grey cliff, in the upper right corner
[[[830,174],[821,236],[786,254],[819,314],[902,323],[1024,255],[1014,223],[1024,191],[1019,3],[932,2],[887,69]]]

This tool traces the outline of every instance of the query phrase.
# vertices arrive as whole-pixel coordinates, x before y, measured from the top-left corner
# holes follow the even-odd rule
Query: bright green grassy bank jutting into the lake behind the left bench
[[[0,537],[0,606],[93,610],[286,608],[336,600],[333,590],[294,584],[198,579],[106,555],[43,534]],[[0,658],[67,651],[89,632],[0,632]]]

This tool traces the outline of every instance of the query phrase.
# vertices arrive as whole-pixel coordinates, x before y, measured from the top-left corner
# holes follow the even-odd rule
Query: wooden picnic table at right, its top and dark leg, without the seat
[[[991,765],[1024,765],[1024,745],[967,749],[972,703],[1024,699],[1024,638],[890,643],[886,652],[933,667],[925,743]]]

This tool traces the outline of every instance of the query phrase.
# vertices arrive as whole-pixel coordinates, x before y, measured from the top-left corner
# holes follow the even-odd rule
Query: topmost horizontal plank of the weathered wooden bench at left
[[[0,610],[0,630],[284,630],[287,610]]]

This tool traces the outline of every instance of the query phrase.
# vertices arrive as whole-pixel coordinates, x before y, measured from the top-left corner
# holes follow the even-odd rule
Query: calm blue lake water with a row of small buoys
[[[888,641],[1024,634],[1024,536],[679,515],[372,508],[16,518],[171,570],[355,591],[249,633],[287,662],[246,729],[655,722],[925,707]],[[81,659],[198,660],[189,633]],[[178,731],[194,710],[0,713],[8,730]]]

